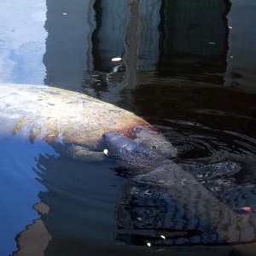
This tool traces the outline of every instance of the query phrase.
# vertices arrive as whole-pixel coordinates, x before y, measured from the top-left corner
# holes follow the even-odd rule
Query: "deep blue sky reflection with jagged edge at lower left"
[[[32,205],[39,201],[38,191],[44,191],[38,183],[38,158],[44,155],[56,157],[55,150],[46,143],[30,143],[15,137],[0,137],[0,203],[2,210],[0,248],[1,255],[9,255],[15,250],[15,236],[24,230],[32,219],[38,218]],[[40,166],[40,164],[38,164]],[[44,166],[40,166],[44,168]],[[3,246],[4,245],[4,246]]]

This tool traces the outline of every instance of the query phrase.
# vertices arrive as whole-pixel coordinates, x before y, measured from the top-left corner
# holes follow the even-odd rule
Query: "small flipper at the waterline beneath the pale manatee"
[[[67,148],[67,154],[79,160],[86,160],[86,161],[106,160],[106,154],[104,154],[103,152],[93,151],[79,145],[73,145]]]

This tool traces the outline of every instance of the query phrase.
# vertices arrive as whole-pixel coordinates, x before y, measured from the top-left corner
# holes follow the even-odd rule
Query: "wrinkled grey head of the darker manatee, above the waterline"
[[[162,154],[131,138],[112,131],[105,132],[102,137],[111,154],[117,156],[121,165],[131,171],[129,174],[133,180],[164,187],[173,183],[197,183],[195,177],[189,172],[184,172],[172,160],[167,160]]]

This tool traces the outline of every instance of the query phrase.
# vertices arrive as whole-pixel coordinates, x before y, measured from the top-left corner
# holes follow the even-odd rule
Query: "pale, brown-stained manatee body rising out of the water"
[[[104,131],[137,137],[166,154],[176,150],[134,113],[79,92],[46,85],[0,84],[0,136],[96,147]]]

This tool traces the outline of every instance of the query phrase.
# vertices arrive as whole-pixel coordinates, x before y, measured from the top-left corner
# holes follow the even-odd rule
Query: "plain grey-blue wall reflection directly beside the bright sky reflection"
[[[91,1],[47,0],[47,20],[45,29],[46,53],[44,84],[66,88],[79,88],[91,64],[90,15],[93,13]]]

